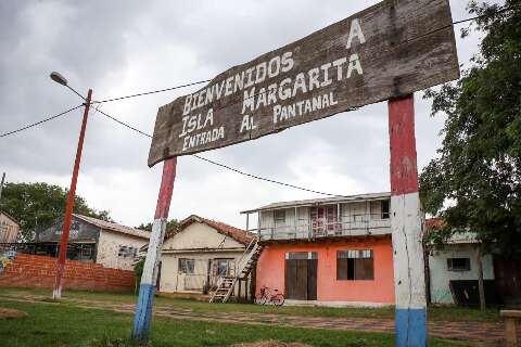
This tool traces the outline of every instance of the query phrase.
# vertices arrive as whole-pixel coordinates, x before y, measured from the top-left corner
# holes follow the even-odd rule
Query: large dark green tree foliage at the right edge
[[[445,220],[444,235],[471,230],[488,249],[521,257],[521,1],[468,9],[484,37],[457,82],[425,93],[446,121],[420,196]]]

